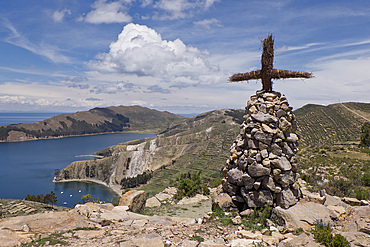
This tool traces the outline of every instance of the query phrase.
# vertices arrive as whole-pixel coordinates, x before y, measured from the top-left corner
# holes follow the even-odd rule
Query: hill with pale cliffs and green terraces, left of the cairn
[[[56,181],[99,180],[117,188],[134,183],[127,178],[152,171],[147,191],[157,193],[170,179],[185,172],[201,170],[208,181],[213,180],[220,176],[243,114],[242,110],[216,110],[184,119],[155,138],[97,152],[104,156],[102,159],[73,162],[60,172]]]

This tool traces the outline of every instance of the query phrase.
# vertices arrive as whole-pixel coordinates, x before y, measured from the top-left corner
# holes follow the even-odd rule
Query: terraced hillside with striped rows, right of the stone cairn
[[[295,110],[294,114],[298,122],[300,144],[327,145],[359,140],[361,126],[370,121],[370,104],[309,104]]]

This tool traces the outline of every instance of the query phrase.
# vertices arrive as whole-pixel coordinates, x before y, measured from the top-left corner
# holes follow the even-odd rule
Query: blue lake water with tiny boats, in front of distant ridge
[[[55,169],[61,170],[73,161],[89,159],[78,157],[80,155],[93,154],[118,143],[152,136],[154,135],[115,133],[0,143],[0,198],[24,199],[27,194],[45,195],[53,190],[58,197],[57,205],[60,206],[72,207],[86,194],[113,202],[117,199],[116,194],[99,184],[54,184],[52,180]]]

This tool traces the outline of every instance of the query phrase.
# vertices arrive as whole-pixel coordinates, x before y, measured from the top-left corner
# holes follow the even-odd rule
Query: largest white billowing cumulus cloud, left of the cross
[[[182,77],[186,83],[210,83],[209,75],[214,80],[220,73],[208,62],[206,51],[186,46],[180,39],[162,40],[155,30],[132,23],[110,44],[108,53],[97,55],[88,66],[99,72],[149,76],[169,83]]]

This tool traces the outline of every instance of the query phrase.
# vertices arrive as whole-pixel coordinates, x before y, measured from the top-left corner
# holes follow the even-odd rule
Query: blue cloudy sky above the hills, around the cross
[[[370,102],[370,1],[12,0],[0,2],[0,112],[141,105],[242,109],[275,37],[274,82],[297,109]]]

